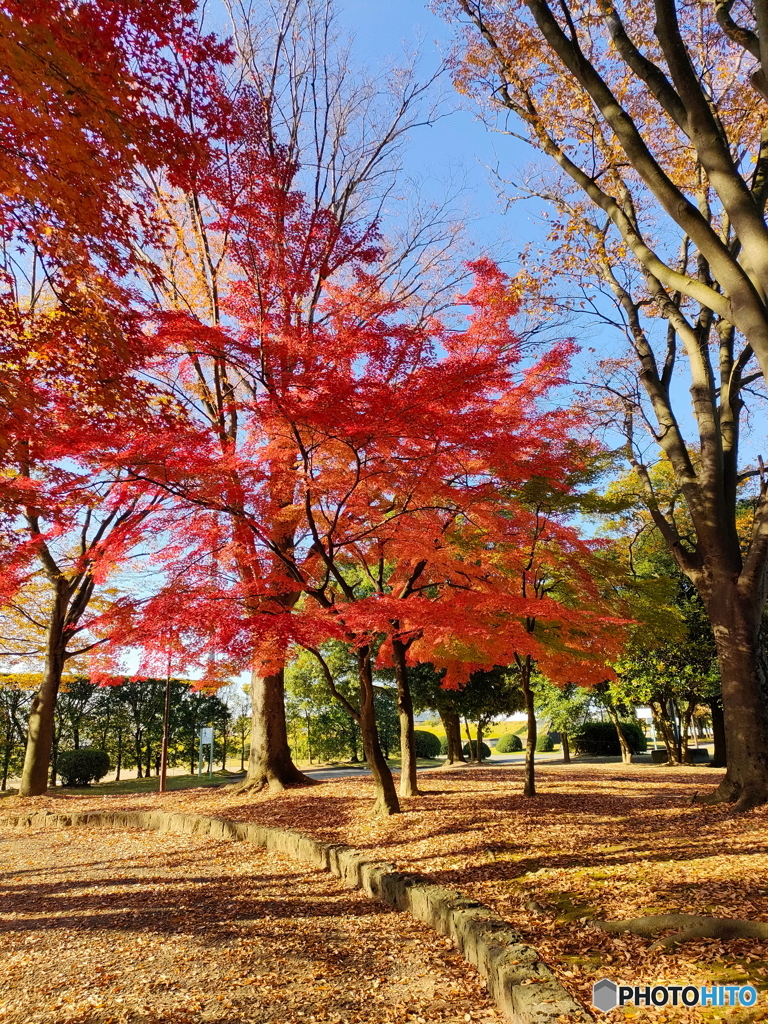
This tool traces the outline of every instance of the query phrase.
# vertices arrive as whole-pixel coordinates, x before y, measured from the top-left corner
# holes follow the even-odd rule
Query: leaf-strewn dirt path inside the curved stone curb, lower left
[[[3,1024],[501,1024],[431,931],[249,844],[0,831]]]

